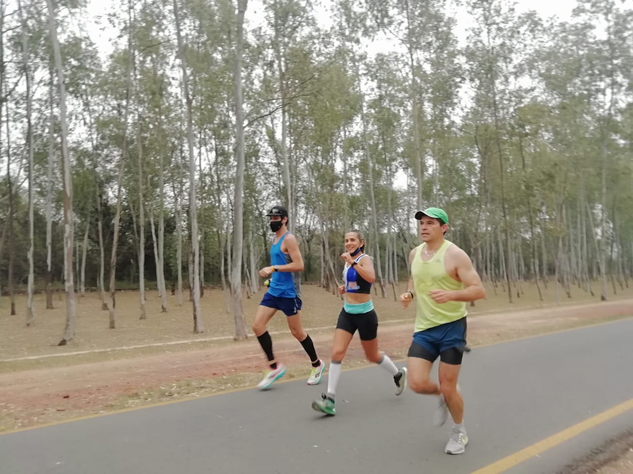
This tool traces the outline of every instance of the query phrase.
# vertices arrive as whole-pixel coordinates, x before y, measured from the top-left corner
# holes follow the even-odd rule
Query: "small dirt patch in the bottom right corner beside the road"
[[[633,430],[613,437],[556,474],[633,474]]]

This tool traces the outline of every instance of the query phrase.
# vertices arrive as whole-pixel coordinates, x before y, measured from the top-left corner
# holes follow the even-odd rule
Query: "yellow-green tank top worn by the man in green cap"
[[[411,264],[411,276],[415,288],[414,301],[417,303],[415,332],[453,322],[467,315],[465,302],[436,303],[429,295],[431,289],[447,291],[463,289],[463,284],[449,276],[444,266],[444,255],[450,245],[452,245],[451,242],[444,240],[442,246],[428,262],[423,262],[421,257],[426,243],[418,245],[415,249],[415,257]]]

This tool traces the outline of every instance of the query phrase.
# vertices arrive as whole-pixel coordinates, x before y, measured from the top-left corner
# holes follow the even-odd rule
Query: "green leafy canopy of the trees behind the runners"
[[[183,210],[181,263],[186,286],[191,241],[187,104],[175,61],[172,5],[158,0],[113,5],[108,20],[120,34],[107,56],[99,51],[95,37],[72,27],[85,20],[82,5],[58,4],[57,15],[63,31],[76,241],[82,241],[89,226],[88,286],[94,286],[99,272],[97,196],[103,200],[105,270],[109,266],[120,160],[124,173],[117,277],[138,277],[139,225],[135,229],[133,222],[138,219],[140,165],[146,218],[153,212],[158,224],[163,212],[165,219],[168,286],[178,265],[176,205]],[[179,0],[179,5],[191,78],[204,275],[207,283],[216,284],[222,253],[225,276],[229,275],[227,233],[232,241],[236,8],[230,0]],[[505,225],[513,277],[533,278],[534,258],[541,277],[563,261],[579,281],[597,277],[594,262],[600,261],[602,243],[610,272],[633,273],[630,9],[613,0],[580,0],[572,18],[560,21],[540,18],[536,12],[518,13],[506,0],[467,1],[465,8],[474,21],[465,43],[460,43],[454,11],[443,2],[336,0],[329,6],[328,29],[316,21],[310,2],[266,0],[258,12],[249,6],[242,71],[248,267],[250,240],[256,265],[267,263],[271,235],[265,210],[273,203],[284,204],[287,196],[283,111],[292,211],[297,214],[292,231],[306,259],[304,279],[323,281],[321,222],[329,257],[339,265],[346,226],[369,231],[373,212],[380,252],[389,247],[398,260],[399,277],[406,276],[406,251],[418,242],[413,222],[418,190],[423,205],[439,205],[449,212],[450,238],[479,259],[478,268],[490,279],[500,279],[505,271],[499,252]],[[52,61],[44,12],[31,4],[24,8],[28,56],[35,71],[35,274],[41,284],[46,274]],[[28,270],[26,97],[21,31],[15,17],[4,21],[3,84],[10,93],[2,104],[0,221],[8,217],[9,173],[16,186],[13,230],[20,256],[14,273],[16,283],[22,283]],[[389,40],[393,47],[375,52],[372,39]],[[130,59],[134,70],[128,87],[125,71]],[[55,82],[53,78],[53,87]],[[63,229],[56,88],[53,102],[53,270],[58,281]],[[4,139],[7,117],[10,140]],[[418,156],[422,182],[417,180]],[[375,209],[370,204],[370,170]],[[145,240],[146,277],[154,280],[149,222]],[[3,284],[7,248],[5,244],[0,258]]]

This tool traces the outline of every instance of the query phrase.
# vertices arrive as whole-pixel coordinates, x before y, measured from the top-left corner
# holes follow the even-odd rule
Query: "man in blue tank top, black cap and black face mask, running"
[[[266,324],[277,310],[284,312],[292,336],[296,337],[310,357],[312,368],[308,385],[316,385],[321,382],[325,364],[316,356],[314,343],[301,326],[301,275],[299,272],[303,270],[303,257],[301,257],[296,238],[287,229],[288,211],[285,207],[275,206],[266,216],[270,218],[270,230],[275,233],[275,238],[270,248],[272,266],[261,269],[260,276],[271,278],[268,291],[257,308],[253,332],[268,358],[270,372],[257,386],[260,389],[266,389],[285,374],[284,365],[275,360],[273,342],[266,330]]]

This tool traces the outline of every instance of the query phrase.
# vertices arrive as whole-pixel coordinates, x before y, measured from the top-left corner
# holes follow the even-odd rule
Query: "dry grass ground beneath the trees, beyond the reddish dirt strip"
[[[594,285],[598,292],[598,285]],[[399,295],[406,288],[405,283],[396,288]],[[611,289],[611,288],[610,288]],[[618,288],[619,289],[619,288]],[[522,284],[523,295],[514,302],[508,303],[508,296],[502,288],[487,288],[486,300],[477,301],[475,307],[469,308],[472,315],[491,312],[511,312],[527,308],[546,308],[556,306],[556,291],[553,284],[549,284],[544,291],[544,301],[540,301],[536,288],[531,284]],[[256,293],[251,298],[244,298],[244,317],[250,331],[256,307],[263,293]],[[146,293],[147,319],[139,319],[140,301],[137,291],[122,291],[116,296],[116,329],[108,329],[108,312],[101,310],[101,301],[97,293],[87,293],[84,297],[77,296],[77,332],[75,339],[66,346],[56,346],[63,334],[65,324],[65,296],[59,293],[54,296],[54,310],[46,310],[45,296],[35,296],[34,327],[26,327],[25,312],[26,298],[20,295],[16,298],[18,315],[9,316],[9,300],[2,298],[0,307],[0,327],[2,341],[0,346],[0,372],[8,370],[8,360],[32,358],[46,355],[60,355],[65,353],[84,352],[92,354],[90,360],[98,359],[98,354],[106,349],[132,348],[116,351],[123,356],[134,353],[154,353],[162,351],[166,344],[179,346],[179,341],[187,341],[192,348],[199,347],[197,343],[233,343],[233,316],[227,312],[226,303],[229,295],[223,295],[220,289],[206,289],[201,300],[204,332],[194,334],[192,305],[184,295],[184,303],[177,305],[175,296],[168,295],[168,312],[160,312],[160,298],[156,291]],[[618,291],[617,295],[609,295],[609,300],[633,298],[633,288]],[[599,299],[588,293],[574,288],[572,298],[567,298],[560,291],[560,305],[578,305],[596,302]],[[303,285],[303,325],[306,328],[332,327],[341,310],[342,300],[338,296],[327,293],[314,285]],[[414,310],[403,310],[394,301],[394,291],[387,289],[385,298],[374,297],[374,305],[381,322],[406,322],[413,320]],[[270,322],[270,331],[285,331],[287,325],[282,313],[278,313]],[[144,347],[138,347],[144,346]],[[96,356],[96,358],[95,358]],[[108,359],[112,353],[107,356]],[[28,360],[28,359],[27,359]],[[40,361],[43,362],[44,359]],[[85,360],[82,358],[80,360]],[[37,367],[37,365],[30,365]]]

